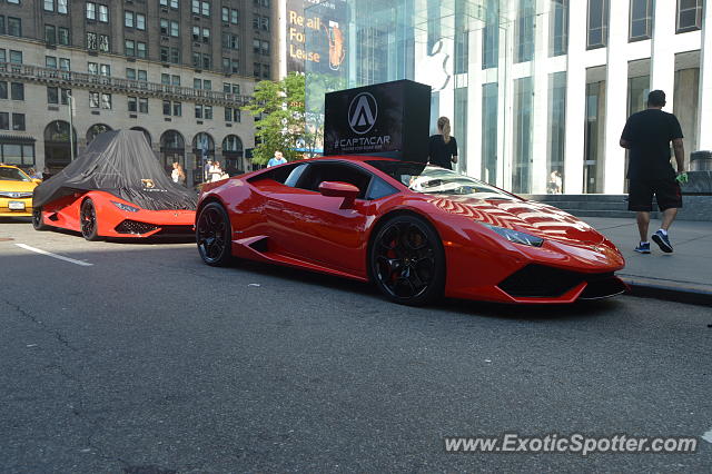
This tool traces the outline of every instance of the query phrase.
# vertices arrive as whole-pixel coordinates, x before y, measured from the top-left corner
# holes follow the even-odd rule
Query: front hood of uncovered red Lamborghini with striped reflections
[[[551,240],[597,245],[604,240],[593,227],[555,207],[503,195],[437,197],[433,204],[493,226],[512,228]]]

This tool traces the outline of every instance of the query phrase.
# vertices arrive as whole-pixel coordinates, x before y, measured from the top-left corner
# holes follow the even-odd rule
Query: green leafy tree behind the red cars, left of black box
[[[290,72],[280,81],[264,80],[255,87],[255,100],[245,107],[255,116],[253,161],[265,165],[279,150],[288,161],[301,158],[305,140],[305,77]]]

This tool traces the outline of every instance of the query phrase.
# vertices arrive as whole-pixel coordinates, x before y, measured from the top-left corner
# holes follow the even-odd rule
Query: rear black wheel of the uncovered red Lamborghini
[[[198,215],[196,241],[200,258],[214,267],[224,267],[230,263],[231,240],[230,219],[219,203],[210,203]]]

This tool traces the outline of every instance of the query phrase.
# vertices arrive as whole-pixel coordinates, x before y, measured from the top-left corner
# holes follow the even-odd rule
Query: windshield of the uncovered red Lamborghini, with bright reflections
[[[512,199],[512,196],[486,182],[438,166],[385,160],[373,160],[367,164],[386,172],[416,192],[457,196],[488,195],[477,197]]]

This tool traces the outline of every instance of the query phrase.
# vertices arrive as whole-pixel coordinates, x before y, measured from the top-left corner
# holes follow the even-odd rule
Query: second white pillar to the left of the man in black
[[[564,191],[583,191],[583,157],[586,124],[586,9],[568,12],[568,53],[566,56],[566,142],[564,146]]]

